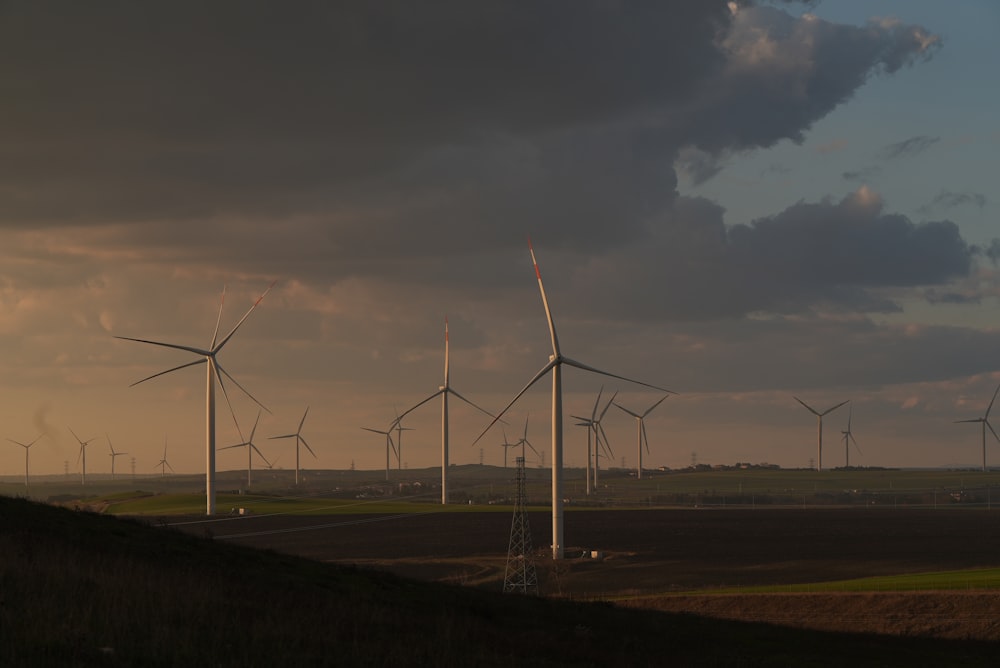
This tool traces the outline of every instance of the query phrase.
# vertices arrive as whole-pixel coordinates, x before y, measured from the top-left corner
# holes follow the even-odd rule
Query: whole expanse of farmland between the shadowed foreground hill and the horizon
[[[394,471],[391,483],[382,472],[310,472],[295,492],[275,476],[255,495],[242,493],[229,472],[221,476],[220,489],[230,492],[219,496],[222,515],[211,519],[201,515],[197,476],[164,479],[167,494],[121,491],[119,483],[119,491],[77,503],[218,542],[499,591],[510,472],[455,468],[453,499],[464,502],[448,506],[436,503],[434,469]],[[561,562],[548,557],[548,471],[528,473],[545,596],[1000,641],[1000,472],[653,472],[638,481],[609,471],[586,497],[570,471]],[[601,558],[583,557],[593,551]]]

